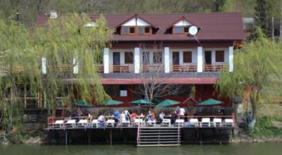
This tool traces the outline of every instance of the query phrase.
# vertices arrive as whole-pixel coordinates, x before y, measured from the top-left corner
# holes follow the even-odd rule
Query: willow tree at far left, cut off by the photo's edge
[[[13,20],[0,20],[0,129],[9,131],[20,122],[20,84],[38,84],[36,52],[30,31]],[[32,70],[32,71],[31,71]]]

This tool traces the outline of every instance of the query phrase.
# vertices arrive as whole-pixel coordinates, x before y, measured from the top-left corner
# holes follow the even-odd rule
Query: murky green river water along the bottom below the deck
[[[272,155],[282,154],[282,143],[240,143],[240,144],[182,144],[180,147],[136,147],[134,144],[114,144],[114,145],[27,145],[13,144],[0,145],[0,155],[107,155],[107,154],[123,154],[123,155],[149,155],[149,154],[173,154],[173,155]]]

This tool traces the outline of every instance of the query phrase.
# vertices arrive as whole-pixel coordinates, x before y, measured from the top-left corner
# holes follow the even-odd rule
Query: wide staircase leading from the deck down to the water
[[[137,147],[180,146],[180,127],[139,127]]]

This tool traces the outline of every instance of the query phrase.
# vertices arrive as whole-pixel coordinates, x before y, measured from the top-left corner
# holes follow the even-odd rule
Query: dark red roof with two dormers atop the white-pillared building
[[[107,25],[115,28],[123,21],[130,20],[133,14],[106,14]],[[154,35],[114,35],[117,41],[149,41],[149,40],[195,40],[187,35],[166,34],[166,28],[179,20],[185,18],[191,23],[202,27],[196,35],[199,40],[243,40],[243,20],[240,13],[179,13],[179,14],[140,14],[140,18],[158,27]],[[99,15],[90,15],[95,20]],[[38,16],[37,25],[41,26],[47,22],[48,16]]]

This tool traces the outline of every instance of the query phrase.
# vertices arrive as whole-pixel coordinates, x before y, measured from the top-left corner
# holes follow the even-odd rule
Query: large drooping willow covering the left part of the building
[[[77,13],[49,19],[44,27],[37,28],[35,51],[46,58],[42,90],[49,109],[56,110],[59,94],[68,96],[65,104],[75,99],[94,102],[109,99],[96,64],[102,61],[103,48],[109,46],[112,34],[103,16],[93,22],[86,14]]]

